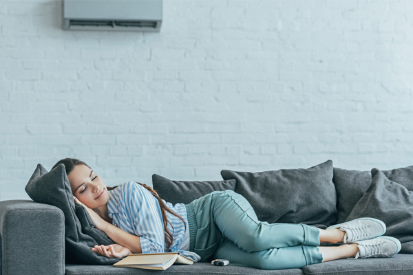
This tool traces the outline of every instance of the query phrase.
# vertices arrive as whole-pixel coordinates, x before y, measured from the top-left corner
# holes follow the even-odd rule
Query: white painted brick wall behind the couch
[[[413,1],[165,0],[160,33],[62,4],[0,0],[0,199],[63,157],[108,185],[413,164]]]

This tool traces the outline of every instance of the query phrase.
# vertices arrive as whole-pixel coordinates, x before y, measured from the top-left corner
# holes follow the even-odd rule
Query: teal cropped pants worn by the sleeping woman
[[[227,259],[232,265],[281,270],[323,260],[315,226],[259,221],[251,204],[231,190],[212,192],[186,207],[189,250],[201,261]]]

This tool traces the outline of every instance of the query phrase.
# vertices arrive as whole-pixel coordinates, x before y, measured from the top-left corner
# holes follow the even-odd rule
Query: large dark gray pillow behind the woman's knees
[[[335,223],[331,160],[308,169],[260,173],[222,170],[221,175],[237,180],[235,191],[251,203],[260,221],[326,226]]]

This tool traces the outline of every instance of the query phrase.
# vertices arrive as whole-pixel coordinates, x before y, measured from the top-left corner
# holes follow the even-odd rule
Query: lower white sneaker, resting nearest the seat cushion
[[[380,236],[366,241],[354,241],[354,243],[357,243],[359,248],[355,259],[391,257],[401,250],[400,241],[391,236]]]

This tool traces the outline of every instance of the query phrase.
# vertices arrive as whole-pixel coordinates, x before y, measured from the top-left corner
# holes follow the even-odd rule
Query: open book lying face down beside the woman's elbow
[[[192,265],[193,261],[177,252],[129,254],[125,259],[114,263],[114,266],[143,268],[145,270],[167,270],[174,263]]]

